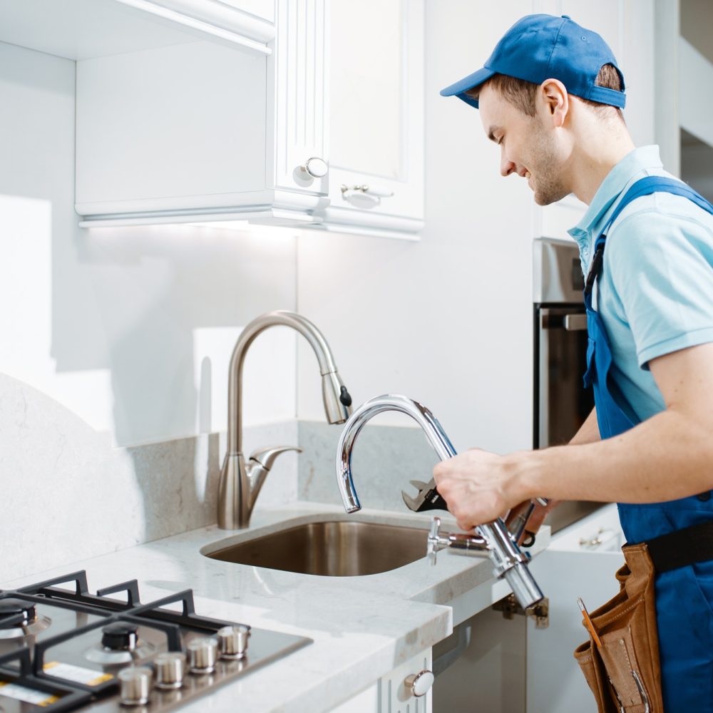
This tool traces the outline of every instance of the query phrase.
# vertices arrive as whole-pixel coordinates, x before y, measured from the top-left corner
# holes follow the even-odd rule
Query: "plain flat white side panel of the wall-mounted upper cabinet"
[[[265,66],[206,42],[78,62],[78,212],[264,190]]]

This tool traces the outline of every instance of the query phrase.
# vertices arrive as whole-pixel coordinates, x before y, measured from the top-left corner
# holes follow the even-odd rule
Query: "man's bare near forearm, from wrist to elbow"
[[[605,441],[506,458],[513,459],[513,484],[523,500],[657,503],[713,488],[713,438],[672,409]]]

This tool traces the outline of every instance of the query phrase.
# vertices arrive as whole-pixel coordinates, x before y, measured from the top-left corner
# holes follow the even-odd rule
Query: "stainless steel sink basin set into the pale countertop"
[[[426,556],[427,530],[332,520],[297,525],[220,548],[206,557],[240,565],[323,577],[358,577],[395,570]],[[213,549],[216,548],[216,549]]]

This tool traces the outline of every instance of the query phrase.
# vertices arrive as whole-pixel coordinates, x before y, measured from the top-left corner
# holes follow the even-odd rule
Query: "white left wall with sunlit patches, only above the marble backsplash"
[[[204,227],[82,230],[72,61],[0,43],[0,372],[118,445],[225,429],[242,327],[294,309],[295,238]],[[295,337],[245,365],[245,423],[294,418]]]

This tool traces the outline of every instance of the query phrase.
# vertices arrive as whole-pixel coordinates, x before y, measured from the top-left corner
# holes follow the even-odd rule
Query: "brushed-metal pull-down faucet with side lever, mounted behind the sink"
[[[268,327],[292,327],[307,339],[319,361],[322,374],[322,400],[330,424],[343,424],[352,413],[352,397],[334,364],[332,351],[319,329],[295,312],[266,312],[247,324],[238,337],[230,357],[227,396],[227,452],[218,486],[218,527],[223,530],[246,528],[262,483],[280,453],[298,451],[297,446],[271,446],[253,451],[247,463],[242,454],[242,364],[250,344]]]

